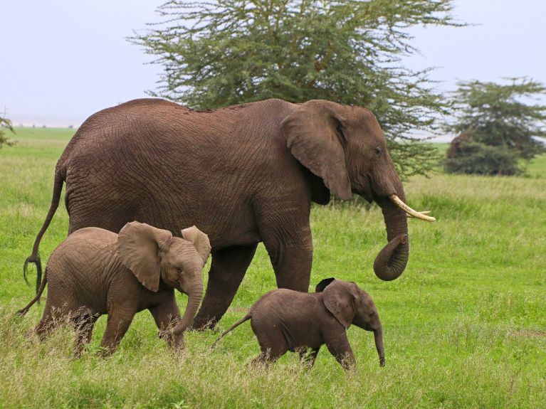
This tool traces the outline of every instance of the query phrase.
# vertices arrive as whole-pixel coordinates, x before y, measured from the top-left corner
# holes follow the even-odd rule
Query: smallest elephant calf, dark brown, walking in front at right
[[[313,366],[322,344],[348,369],[355,366],[355,356],[347,340],[346,329],[355,324],[373,331],[384,366],[383,333],[379,314],[369,295],[354,282],[327,278],[314,294],[292,290],[273,290],[253,304],[248,313],[224,331],[214,345],[229,331],[251,319],[252,331],[258,338],[261,354],[254,362],[274,362],[286,351],[298,351],[302,361]],[[312,349],[306,356],[306,348]]]

